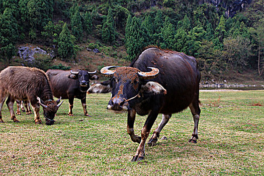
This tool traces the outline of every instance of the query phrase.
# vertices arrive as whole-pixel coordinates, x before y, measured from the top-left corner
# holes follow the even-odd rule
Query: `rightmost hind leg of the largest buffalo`
[[[189,139],[189,142],[197,143],[197,139],[198,139],[198,124],[199,124],[199,118],[200,118],[200,113],[201,113],[201,109],[199,107],[198,99],[196,101],[193,101],[189,105],[189,108],[190,108],[190,110],[192,112],[193,119],[194,119],[194,132],[192,134],[191,139]]]

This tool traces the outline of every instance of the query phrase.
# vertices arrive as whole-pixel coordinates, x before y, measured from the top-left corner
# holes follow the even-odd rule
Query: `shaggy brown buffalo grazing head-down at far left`
[[[54,124],[54,116],[63,102],[60,102],[60,99],[53,100],[44,71],[23,66],[10,66],[0,73],[0,122],[4,122],[1,111],[6,98],[8,98],[6,103],[11,119],[14,122],[19,122],[13,109],[15,100],[28,100],[33,107],[36,124],[41,124],[39,105],[43,107],[46,125]]]

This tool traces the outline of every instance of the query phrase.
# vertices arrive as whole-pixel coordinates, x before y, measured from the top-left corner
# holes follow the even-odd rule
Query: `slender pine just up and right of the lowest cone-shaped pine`
[[[81,23],[81,16],[79,12],[79,8],[75,8],[75,13],[71,16],[70,25],[71,25],[71,32],[78,40],[82,38],[82,23]]]

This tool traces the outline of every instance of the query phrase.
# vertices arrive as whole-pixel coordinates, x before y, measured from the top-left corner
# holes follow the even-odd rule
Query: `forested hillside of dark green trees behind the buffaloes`
[[[9,65],[18,46],[30,43],[65,62],[78,62],[84,45],[108,48],[109,57],[125,46],[127,54],[114,57],[132,60],[156,45],[196,57],[204,77],[263,78],[263,14],[264,0],[0,0],[0,57]]]

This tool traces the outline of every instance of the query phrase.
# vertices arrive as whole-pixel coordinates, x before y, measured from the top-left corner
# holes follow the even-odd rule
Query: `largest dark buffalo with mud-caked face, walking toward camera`
[[[111,70],[111,68],[115,68]],[[107,66],[101,73],[111,77],[94,84],[88,93],[112,93],[107,109],[115,113],[128,111],[127,132],[139,146],[132,159],[144,159],[145,142],[159,113],[162,120],[150,137],[148,144],[154,144],[160,131],[172,113],[189,107],[194,119],[194,131],[189,142],[198,139],[199,82],[200,73],[194,57],[175,51],[148,47],[132,62],[130,67]],[[148,115],[141,137],[134,134],[136,113]]]

